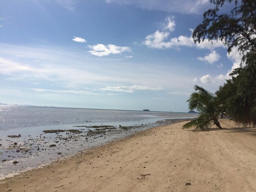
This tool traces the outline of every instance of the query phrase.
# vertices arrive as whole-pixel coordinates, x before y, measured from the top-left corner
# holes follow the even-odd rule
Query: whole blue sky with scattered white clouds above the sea
[[[194,44],[208,0],[0,0],[0,103],[188,112],[240,64]],[[221,11],[228,11],[224,7]]]

